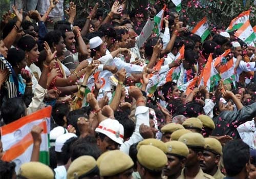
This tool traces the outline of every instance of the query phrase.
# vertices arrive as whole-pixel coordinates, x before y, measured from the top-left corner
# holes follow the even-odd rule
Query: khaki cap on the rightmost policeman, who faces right
[[[217,139],[204,138],[204,149],[222,155],[222,146]]]

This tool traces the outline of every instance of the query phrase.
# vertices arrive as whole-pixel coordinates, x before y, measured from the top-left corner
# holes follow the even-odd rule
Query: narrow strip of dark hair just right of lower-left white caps
[[[73,146],[76,140],[76,137],[68,139],[62,146],[61,152],[56,152],[58,162],[63,163],[63,165],[68,163],[71,156],[71,146]]]

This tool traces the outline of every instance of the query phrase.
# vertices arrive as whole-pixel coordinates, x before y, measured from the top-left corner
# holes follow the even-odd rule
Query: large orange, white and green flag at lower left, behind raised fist
[[[39,162],[46,165],[50,164],[49,134],[51,111],[52,107],[48,106],[0,128],[3,149],[6,151],[2,160],[15,162],[16,171],[23,163],[30,162],[33,149],[31,129],[34,125],[39,125],[43,129],[41,133],[42,142],[40,145]]]

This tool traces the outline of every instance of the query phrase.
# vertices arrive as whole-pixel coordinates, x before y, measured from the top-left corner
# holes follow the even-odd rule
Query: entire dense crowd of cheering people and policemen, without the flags
[[[31,126],[31,159],[0,160],[0,178],[256,178],[253,45],[218,27],[202,41],[167,10],[158,34],[159,10],[126,1],[82,19],[73,2],[31,2],[1,22],[0,122],[52,106],[50,163]],[[233,61],[233,79],[200,83],[218,57],[218,73]]]

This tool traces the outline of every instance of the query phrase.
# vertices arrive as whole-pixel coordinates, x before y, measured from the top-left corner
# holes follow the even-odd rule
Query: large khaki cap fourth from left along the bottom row
[[[145,168],[161,171],[167,163],[166,154],[152,145],[142,145],[137,153],[138,162]]]

